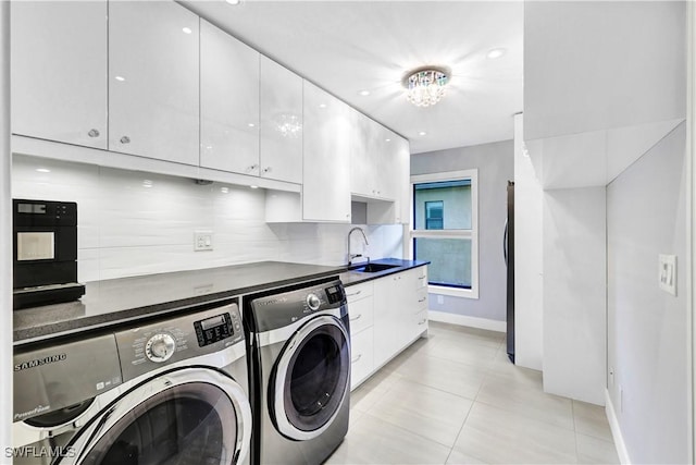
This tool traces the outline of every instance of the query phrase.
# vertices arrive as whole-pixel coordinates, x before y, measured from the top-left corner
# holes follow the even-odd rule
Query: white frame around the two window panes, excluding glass
[[[415,230],[415,184],[440,181],[460,181],[463,179],[471,180],[471,230]],[[445,171],[427,174],[414,174],[410,179],[410,200],[411,200],[411,221],[409,224],[408,253],[411,259],[413,257],[413,240],[417,237],[427,238],[460,238],[471,240],[471,289],[448,287],[443,285],[430,284],[427,292],[432,294],[449,295],[463,298],[478,298],[478,170],[458,170]]]

